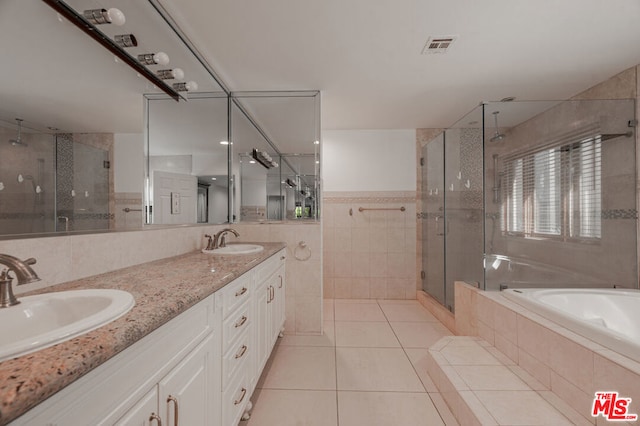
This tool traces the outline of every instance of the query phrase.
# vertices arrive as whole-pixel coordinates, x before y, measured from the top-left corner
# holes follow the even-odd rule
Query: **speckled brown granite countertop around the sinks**
[[[284,243],[260,245],[264,246],[260,253],[229,256],[191,252],[29,293],[111,288],[128,291],[136,303],[126,315],[96,330],[0,362],[0,425],[17,418],[285,247]]]

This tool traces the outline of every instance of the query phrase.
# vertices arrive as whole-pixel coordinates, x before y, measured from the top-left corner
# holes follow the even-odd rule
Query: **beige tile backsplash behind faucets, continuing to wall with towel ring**
[[[1,240],[0,253],[26,259],[34,257],[34,270],[41,281],[15,287],[16,294],[49,287],[92,275],[108,273],[128,266],[178,256],[203,247],[204,234],[212,234],[228,225],[147,227],[128,232],[51,236]],[[234,224],[240,241],[283,241],[289,253],[287,269],[288,334],[322,332],[322,268],[320,224]],[[295,251],[305,241],[311,249]]]

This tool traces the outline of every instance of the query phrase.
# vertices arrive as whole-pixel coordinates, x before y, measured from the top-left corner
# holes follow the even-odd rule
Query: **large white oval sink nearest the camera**
[[[0,361],[53,346],[95,330],[135,304],[122,290],[91,289],[18,297],[0,309]]]

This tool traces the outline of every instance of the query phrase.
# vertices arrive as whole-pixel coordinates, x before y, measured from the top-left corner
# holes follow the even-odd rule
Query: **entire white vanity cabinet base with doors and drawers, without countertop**
[[[236,426],[284,330],[285,251],[14,420],[28,426]]]

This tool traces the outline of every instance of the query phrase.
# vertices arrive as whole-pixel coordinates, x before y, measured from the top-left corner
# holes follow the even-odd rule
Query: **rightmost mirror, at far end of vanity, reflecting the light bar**
[[[318,219],[319,92],[236,92],[232,97],[240,220]],[[252,163],[253,149],[266,151],[279,167]]]

